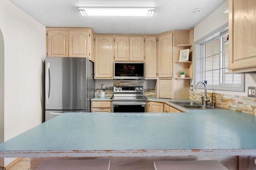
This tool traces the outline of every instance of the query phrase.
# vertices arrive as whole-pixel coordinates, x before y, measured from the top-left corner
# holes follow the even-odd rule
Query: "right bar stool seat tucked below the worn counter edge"
[[[155,170],[228,170],[218,160],[156,160]]]

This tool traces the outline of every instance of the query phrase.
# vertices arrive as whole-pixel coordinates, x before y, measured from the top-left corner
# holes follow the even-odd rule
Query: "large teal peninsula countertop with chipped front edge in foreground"
[[[2,144],[0,157],[255,155],[256,117],[190,113],[64,113]]]

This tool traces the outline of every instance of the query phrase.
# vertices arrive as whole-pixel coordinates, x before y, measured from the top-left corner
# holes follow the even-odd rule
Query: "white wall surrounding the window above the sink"
[[[223,12],[226,8],[228,8],[228,1],[222,4],[218,9],[212,12],[212,14],[210,14],[208,17],[206,17],[203,21],[201,21],[200,23],[198,23],[198,25],[194,27],[194,42],[208,35],[209,33],[221,27],[225,23],[228,23],[228,14],[225,14]],[[192,80],[191,85],[194,85],[194,80]],[[245,92],[232,92],[224,90],[208,90],[208,92],[247,96],[248,86],[256,86],[256,74],[246,74]]]

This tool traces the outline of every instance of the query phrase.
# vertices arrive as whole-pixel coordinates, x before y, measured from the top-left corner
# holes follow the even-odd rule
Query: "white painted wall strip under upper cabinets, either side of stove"
[[[155,89],[154,80],[95,80],[95,88],[101,88],[101,84],[105,84],[105,87],[113,89],[114,82],[144,82],[144,89]]]

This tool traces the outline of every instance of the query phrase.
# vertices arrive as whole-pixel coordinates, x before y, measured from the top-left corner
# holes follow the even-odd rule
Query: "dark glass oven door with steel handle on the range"
[[[146,102],[144,101],[112,101],[113,113],[144,113]]]

